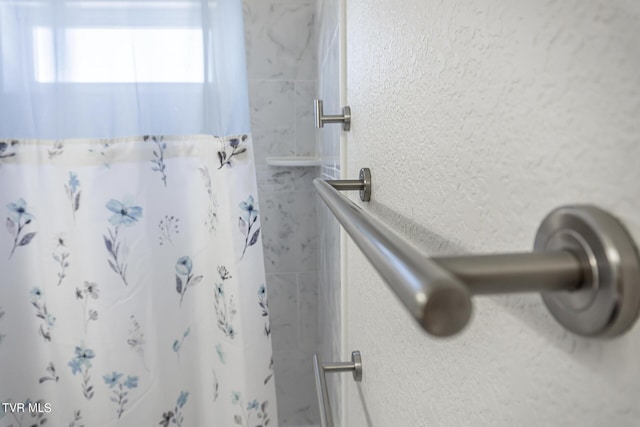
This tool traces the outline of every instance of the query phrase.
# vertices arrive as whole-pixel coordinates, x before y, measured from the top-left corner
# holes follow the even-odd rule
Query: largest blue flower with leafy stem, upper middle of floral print
[[[107,202],[107,209],[113,212],[113,215],[109,218],[109,223],[113,226],[113,229],[108,228],[108,236],[103,235],[104,245],[107,247],[107,252],[112,259],[107,259],[109,267],[118,274],[126,286],[127,282],[127,264],[125,262],[124,253],[125,250],[122,242],[118,240],[120,227],[131,227],[135,225],[140,218],[142,218],[142,208],[140,206],[133,206],[129,201],[119,202],[111,199]],[[121,250],[122,249],[122,250]]]

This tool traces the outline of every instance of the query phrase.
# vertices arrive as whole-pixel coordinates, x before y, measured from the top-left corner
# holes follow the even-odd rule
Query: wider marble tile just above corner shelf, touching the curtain
[[[256,164],[264,164],[267,156],[295,154],[295,98],[293,82],[249,81]]]

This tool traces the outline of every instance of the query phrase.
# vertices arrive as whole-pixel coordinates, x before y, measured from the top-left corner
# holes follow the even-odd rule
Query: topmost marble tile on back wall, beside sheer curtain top
[[[315,3],[245,0],[249,79],[315,80]]]

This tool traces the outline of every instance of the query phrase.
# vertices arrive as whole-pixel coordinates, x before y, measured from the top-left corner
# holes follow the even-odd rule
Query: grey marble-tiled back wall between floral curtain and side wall
[[[316,4],[244,0],[243,8],[279,426],[314,426],[318,168],[272,167],[266,158],[316,155]]]

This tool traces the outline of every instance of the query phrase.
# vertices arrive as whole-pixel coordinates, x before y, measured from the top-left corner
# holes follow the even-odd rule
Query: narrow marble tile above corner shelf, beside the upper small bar
[[[296,91],[296,155],[316,155],[316,128],[313,118],[315,81],[295,82]]]

